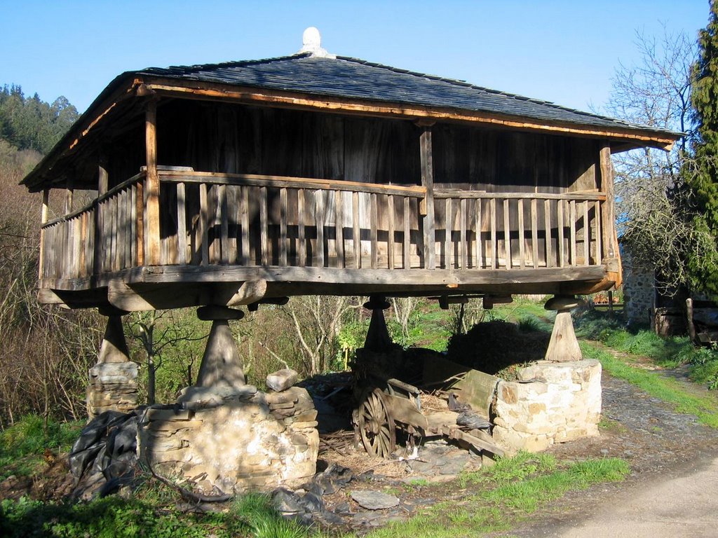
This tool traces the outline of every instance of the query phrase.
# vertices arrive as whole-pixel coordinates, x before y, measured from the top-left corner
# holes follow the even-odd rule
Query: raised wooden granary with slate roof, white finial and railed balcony
[[[570,306],[620,283],[611,154],[678,137],[330,55],[311,30],[291,56],[126,72],[23,180],[39,298],[110,325],[203,307],[205,361],[231,308],[295,295]]]

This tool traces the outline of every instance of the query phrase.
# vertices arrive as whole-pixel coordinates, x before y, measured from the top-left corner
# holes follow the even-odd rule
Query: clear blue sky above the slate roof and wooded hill
[[[83,111],[123,71],[288,55],[315,26],[337,55],[587,110],[636,30],[695,37],[707,19],[707,0],[0,0],[0,84]]]

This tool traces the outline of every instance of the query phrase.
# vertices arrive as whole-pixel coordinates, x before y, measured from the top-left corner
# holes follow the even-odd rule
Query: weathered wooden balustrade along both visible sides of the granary
[[[599,192],[434,189],[425,216],[432,204],[416,185],[160,169],[159,237],[150,237],[144,179],[43,225],[41,278],[140,267],[153,245],[161,265],[404,270],[430,268],[427,253],[452,270],[602,263]]]

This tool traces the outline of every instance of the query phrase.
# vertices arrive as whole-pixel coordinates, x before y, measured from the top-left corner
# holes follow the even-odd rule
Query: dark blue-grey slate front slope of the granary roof
[[[401,70],[352,57],[327,58],[307,53],[266,60],[151,67],[133,74],[679,135],[663,128],[607,118],[549,101],[482,88],[462,80]]]

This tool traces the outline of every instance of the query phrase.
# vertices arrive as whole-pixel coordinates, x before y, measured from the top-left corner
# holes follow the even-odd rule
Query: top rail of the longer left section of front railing
[[[224,185],[250,185],[254,187],[279,187],[290,189],[314,189],[345,192],[369,192],[396,194],[398,196],[423,198],[426,188],[419,185],[380,185],[360,181],[333,181],[291,176],[267,176],[260,174],[221,174],[216,172],[188,172],[159,170],[160,181],[187,183],[213,183]]]

